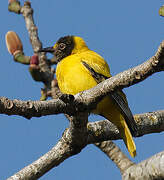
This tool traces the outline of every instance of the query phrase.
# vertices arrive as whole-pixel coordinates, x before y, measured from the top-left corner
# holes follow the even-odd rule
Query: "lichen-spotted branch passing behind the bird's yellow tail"
[[[138,136],[164,131],[164,110],[134,115]],[[88,123],[88,144],[120,139],[119,131],[110,121]]]

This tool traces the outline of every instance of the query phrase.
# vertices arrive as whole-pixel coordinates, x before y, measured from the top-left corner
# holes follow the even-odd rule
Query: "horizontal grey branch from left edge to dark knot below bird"
[[[9,100],[5,97],[0,97],[1,114],[19,115],[27,119],[62,112],[66,113],[69,107],[60,99],[49,101],[19,101],[17,99]]]

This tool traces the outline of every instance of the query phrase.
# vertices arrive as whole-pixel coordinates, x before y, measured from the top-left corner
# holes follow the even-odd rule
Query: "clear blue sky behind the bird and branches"
[[[24,2],[24,1],[21,1]],[[64,35],[78,35],[90,49],[101,54],[117,74],[136,66],[156,52],[164,40],[164,18],[158,15],[162,0],[33,0],[34,18],[43,46],[52,46]],[[24,19],[8,12],[7,1],[0,6],[0,96],[11,99],[38,100],[41,83],[34,82],[28,66],[15,63],[5,45],[5,34],[17,32],[26,55],[33,55]],[[164,73],[124,89],[134,114],[164,108]],[[102,119],[91,116],[90,120]],[[0,179],[4,180],[38,159],[60,139],[68,122],[63,115],[32,118],[0,115]],[[163,150],[164,133],[135,138],[140,162]],[[128,155],[122,141],[116,141]],[[128,155],[129,156],[129,155]],[[121,179],[116,166],[93,145],[52,169],[41,180],[51,179]]]

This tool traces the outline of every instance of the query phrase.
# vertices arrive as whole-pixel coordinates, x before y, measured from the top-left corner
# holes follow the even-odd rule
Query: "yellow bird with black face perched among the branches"
[[[106,61],[90,50],[81,37],[62,37],[53,47],[41,51],[51,52],[56,57],[56,77],[64,94],[75,95],[111,77]],[[135,157],[136,146],[132,134],[137,133],[137,128],[125,94],[121,90],[110,93],[92,113],[107,118],[117,126],[130,155]]]

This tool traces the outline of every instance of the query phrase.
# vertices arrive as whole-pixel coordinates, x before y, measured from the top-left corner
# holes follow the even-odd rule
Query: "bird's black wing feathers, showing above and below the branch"
[[[82,64],[90,71],[92,77],[96,80],[97,83],[102,82],[108,77],[97,73],[90,65],[88,65],[85,61],[82,61]],[[128,102],[126,100],[126,96],[122,92],[122,90],[117,90],[114,92],[110,92],[109,96],[113,99],[113,102],[117,104],[117,107],[121,111],[122,115],[125,118],[125,121],[132,133],[132,135],[137,136],[137,125],[134,120],[133,114],[128,106]]]

